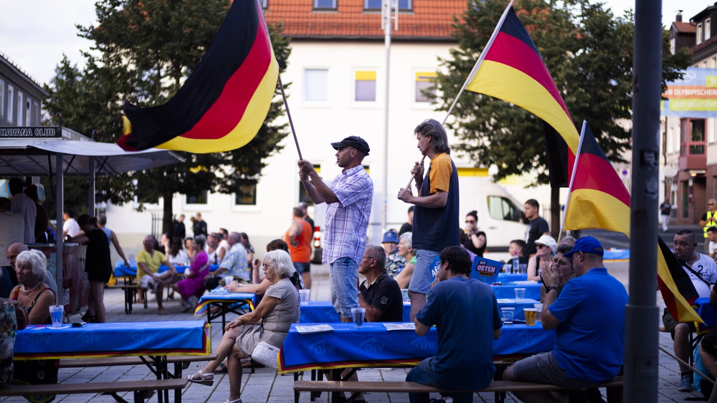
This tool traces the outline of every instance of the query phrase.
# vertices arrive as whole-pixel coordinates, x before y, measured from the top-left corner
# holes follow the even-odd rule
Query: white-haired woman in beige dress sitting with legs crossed
[[[229,399],[227,403],[241,403],[242,359],[251,358],[257,344],[265,341],[281,347],[291,323],[299,320],[299,293],[289,278],[294,266],[289,254],[273,250],[264,255],[264,275],[272,282],[257,308],[239,316],[224,328],[224,336],[217,347],[217,359],[210,361],[196,374],[185,376],[189,381],[212,385],[214,370],[227,358],[229,369]]]

